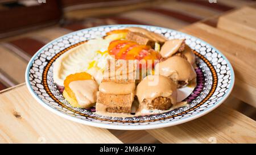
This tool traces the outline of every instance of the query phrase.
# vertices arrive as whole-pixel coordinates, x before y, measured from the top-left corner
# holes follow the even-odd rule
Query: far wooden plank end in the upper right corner
[[[256,9],[243,7],[220,16],[217,27],[249,40],[256,41]]]

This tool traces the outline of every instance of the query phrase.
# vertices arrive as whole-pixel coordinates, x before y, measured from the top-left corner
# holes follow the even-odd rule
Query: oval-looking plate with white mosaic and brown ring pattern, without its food
[[[125,27],[143,27],[149,31],[162,33],[168,39],[186,39],[194,49],[198,68],[197,85],[184,100],[188,106],[163,114],[118,118],[96,114],[95,109],[72,107],[53,81],[53,65],[57,57],[69,49],[105,36],[106,32]],[[220,106],[231,93],[234,85],[234,72],[227,58],[205,41],[168,28],[142,25],[110,25],[87,28],[59,37],[31,58],[26,70],[26,83],[33,97],[48,110],[69,120],[94,127],[110,129],[153,129],[168,127],[199,118]]]

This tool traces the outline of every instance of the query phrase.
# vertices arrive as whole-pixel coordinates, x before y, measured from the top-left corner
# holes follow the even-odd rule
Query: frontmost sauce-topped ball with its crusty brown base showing
[[[137,86],[136,95],[140,110],[168,110],[176,104],[176,84],[164,76],[147,76]]]

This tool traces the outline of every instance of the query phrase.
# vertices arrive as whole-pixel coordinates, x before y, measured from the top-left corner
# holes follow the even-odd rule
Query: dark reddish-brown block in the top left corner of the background
[[[0,10],[0,33],[21,30],[46,23],[58,23],[61,18],[60,3],[47,1],[37,6],[20,6]]]

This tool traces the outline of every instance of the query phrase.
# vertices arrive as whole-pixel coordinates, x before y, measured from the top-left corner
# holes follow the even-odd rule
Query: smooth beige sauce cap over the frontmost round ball
[[[136,95],[140,104],[144,99],[153,100],[157,97],[170,98],[172,104],[175,104],[177,89],[175,83],[167,77],[160,75],[147,76],[137,86]]]

